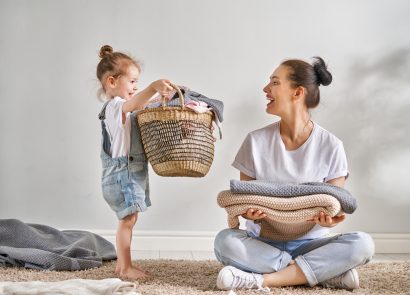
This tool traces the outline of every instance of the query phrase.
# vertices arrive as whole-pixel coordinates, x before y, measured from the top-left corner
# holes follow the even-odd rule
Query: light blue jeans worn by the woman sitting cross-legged
[[[224,229],[215,238],[215,256],[224,265],[247,272],[277,272],[295,260],[310,286],[369,262],[374,243],[364,232],[309,240],[273,241],[245,230]]]

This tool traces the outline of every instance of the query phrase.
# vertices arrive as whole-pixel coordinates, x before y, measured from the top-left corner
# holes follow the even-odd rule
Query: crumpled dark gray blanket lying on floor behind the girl
[[[81,270],[116,257],[114,245],[91,232],[0,219],[0,267]]]

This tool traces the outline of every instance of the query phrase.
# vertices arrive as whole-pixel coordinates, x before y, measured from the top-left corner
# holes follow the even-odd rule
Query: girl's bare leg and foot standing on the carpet
[[[147,274],[141,269],[134,267],[131,261],[132,229],[137,222],[138,213],[134,213],[121,219],[118,223],[116,245],[117,265],[115,273],[120,277],[130,279],[145,279]]]

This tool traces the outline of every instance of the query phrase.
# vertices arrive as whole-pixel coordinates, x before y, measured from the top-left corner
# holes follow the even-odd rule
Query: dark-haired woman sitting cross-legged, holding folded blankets
[[[309,109],[320,101],[319,85],[327,86],[332,75],[322,58],[313,65],[287,60],[272,74],[263,91],[266,112],[280,121],[248,134],[233,166],[241,180],[280,183],[327,182],[343,187],[349,175],[343,143],[310,118]],[[323,212],[306,235],[291,241],[259,237],[254,221],[266,217],[249,208],[243,215],[247,230],[225,229],[215,238],[215,255],[225,266],[218,275],[220,289],[281,287],[321,284],[356,289],[355,267],[374,254],[371,237],[363,232],[329,236],[329,228],[345,219]]]

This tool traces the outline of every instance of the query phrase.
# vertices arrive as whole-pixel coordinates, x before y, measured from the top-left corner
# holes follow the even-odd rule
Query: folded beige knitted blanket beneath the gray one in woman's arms
[[[264,212],[266,217],[261,222],[260,236],[272,240],[293,240],[301,237],[315,226],[309,219],[320,212],[333,217],[341,209],[337,199],[326,194],[280,198],[222,191],[218,194],[217,201],[228,213],[230,228],[239,227],[238,217],[249,208]]]

